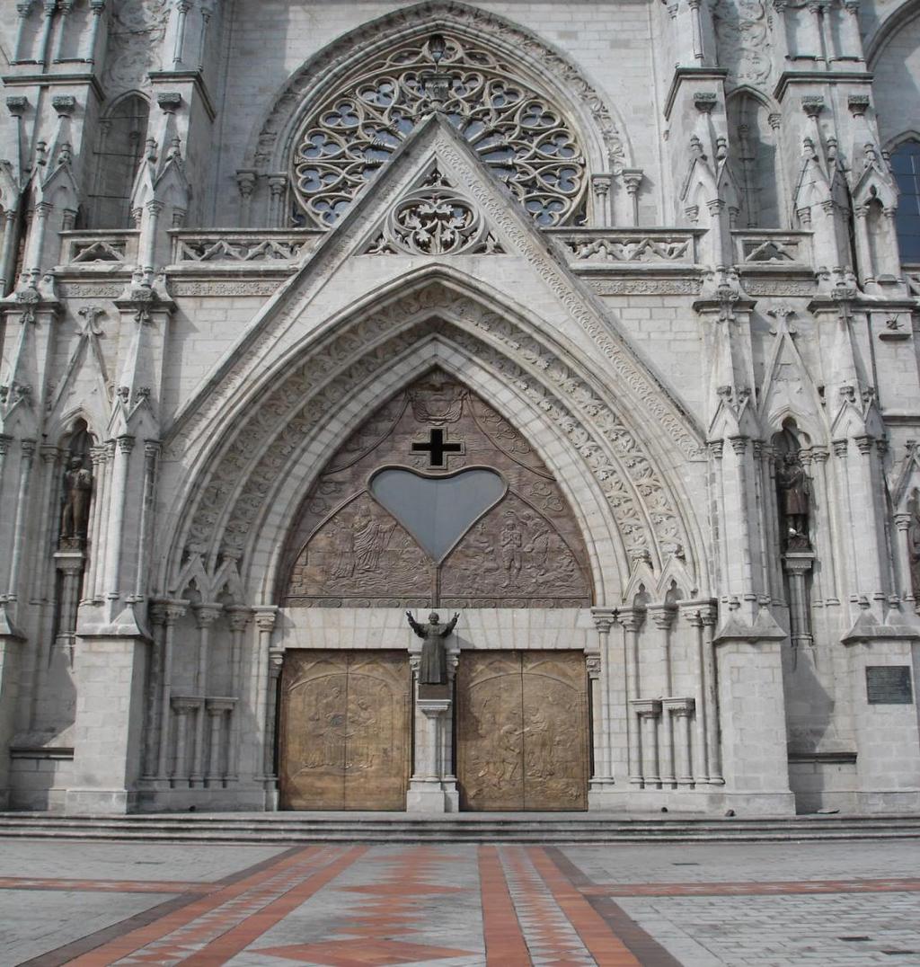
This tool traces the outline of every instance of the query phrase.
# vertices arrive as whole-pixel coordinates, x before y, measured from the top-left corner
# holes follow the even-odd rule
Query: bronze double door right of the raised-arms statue
[[[457,669],[457,713],[463,808],[587,807],[583,652],[465,652]]]

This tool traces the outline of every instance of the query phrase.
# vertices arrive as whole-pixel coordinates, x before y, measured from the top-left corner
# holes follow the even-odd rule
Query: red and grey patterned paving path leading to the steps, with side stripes
[[[77,904],[94,893],[163,894],[140,913],[19,961],[29,967],[678,967],[697,961],[677,959],[618,899],[920,893],[920,879],[905,877],[603,883],[576,865],[570,854],[578,853],[517,845],[310,845],[220,879],[8,875],[0,892],[65,892]],[[0,961],[10,962],[2,954]]]

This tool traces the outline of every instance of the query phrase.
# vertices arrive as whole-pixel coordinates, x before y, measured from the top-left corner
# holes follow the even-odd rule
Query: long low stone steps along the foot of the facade
[[[0,838],[56,837],[198,842],[765,842],[920,838],[920,816],[791,819],[636,819],[551,816],[534,820],[469,814],[413,817],[342,814],[291,818],[227,814],[79,816],[0,813]]]

